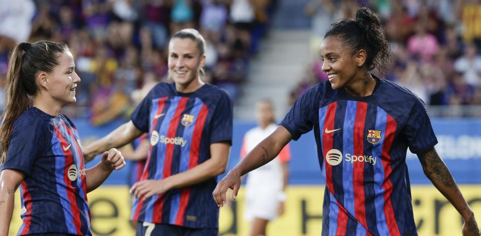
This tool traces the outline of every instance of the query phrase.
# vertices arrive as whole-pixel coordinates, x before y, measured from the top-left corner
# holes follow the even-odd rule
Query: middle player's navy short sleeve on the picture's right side
[[[219,142],[232,144],[232,100],[227,92],[222,91],[222,94],[211,121],[211,144]]]

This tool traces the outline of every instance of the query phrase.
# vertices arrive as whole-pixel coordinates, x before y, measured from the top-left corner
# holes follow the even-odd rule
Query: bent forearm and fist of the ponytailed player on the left
[[[114,170],[120,170],[125,166],[125,160],[119,150],[112,148],[102,154],[102,160],[92,168],[89,168],[87,178],[87,192],[98,188]]]

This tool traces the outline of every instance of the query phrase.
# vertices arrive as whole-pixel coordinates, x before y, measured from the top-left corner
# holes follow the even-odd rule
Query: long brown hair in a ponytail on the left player
[[[7,157],[13,124],[30,108],[30,96],[35,95],[39,89],[35,78],[39,72],[51,73],[59,64],[59,53],[66,50],[68,47],[64,43],[39,41],[33,44],[19,43],[11,51],[5,110],[0,125],[0,164]]]

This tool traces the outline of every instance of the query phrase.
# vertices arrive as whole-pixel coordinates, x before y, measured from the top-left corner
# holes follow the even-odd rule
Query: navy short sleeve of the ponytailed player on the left
[[[29,176],[33,164],[47,148],[48,127],[48,123],[45,122],[15,124],[2,170],[19,170]]]

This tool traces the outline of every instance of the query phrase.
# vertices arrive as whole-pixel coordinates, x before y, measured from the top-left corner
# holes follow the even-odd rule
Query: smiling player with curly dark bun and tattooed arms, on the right
[[[405,162],[418,154],[426,176],[464,219],[463,235],[479,235],[474,214],[436,153],[424,103],[409,90],[370,74],[386,61],[389,44],[369,9],[332,25],[321,44],[329,82],[306,91],[281,125],[219,182],[222,206],[239,177],[267,163],[291,139],[314,128],[326,178],[322,235],[418,235]]]

